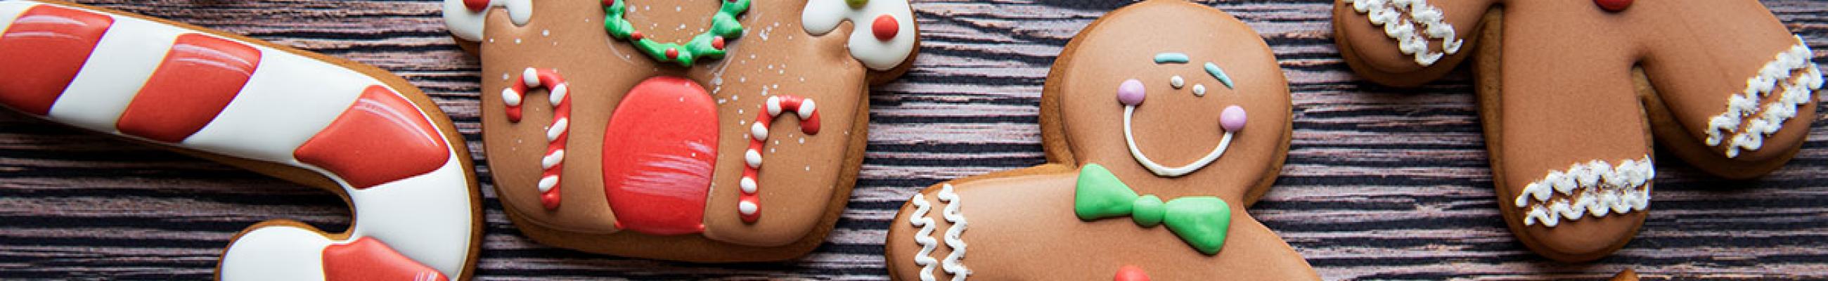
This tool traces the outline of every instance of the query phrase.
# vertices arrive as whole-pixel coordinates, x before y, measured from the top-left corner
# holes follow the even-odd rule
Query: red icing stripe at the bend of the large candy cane
[[[331,126],[292,151],[356,190],[422,175],[450,161],[450,146],[417,106],[369,86]]]

